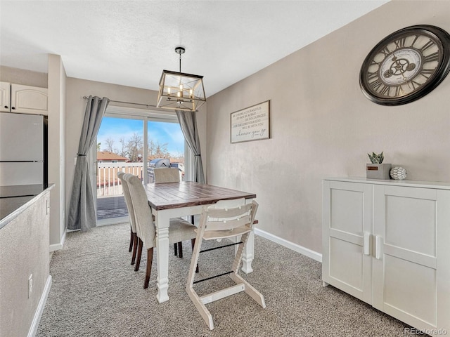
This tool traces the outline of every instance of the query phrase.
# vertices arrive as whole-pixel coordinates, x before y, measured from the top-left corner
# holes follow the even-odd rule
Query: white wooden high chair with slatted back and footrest
[[[252,232],[255,226],[255,214],[258,208],[256,201],[252,201],[251,204],[240,204],[241,201],[231,200],[219,201],[217,205],[203,207],[202,215],[200,216],[200,223],[197,230],[197,237],[195,238],[195,246],[192,253],[191,266],[189,267],[188,282],[186,284],[186,292],[193,301],[195,308],[197,308],[200,315],[205,320],[210,330],[214,329],[214,322],[212,321],[212,315],[206,308],[207,303],[211,303],[214,300],[219,300],[227,296],[245,291],[253,298],[262,308],[266,308],[264,296],[259,291],[253,288],[245,279],[238,275],[240,270],[240,264],[243,258],[243,252],[245,244],[247,244],[250,232]],[[238,206],[236,206],[238,205]],[[219,208],[220,207],[220,208]],[[236,250],[236,256],[231,266],[231,271],[221,273],[205,279],[194,281],[195,268],[198,264],[198,258],[200,253],[212,251],[215,249],[224,248],[233,244],[222,244],[222,246],[213,247],[210,249],[201,250],[203,240],[215,240],[215,239],[232,239],[234,244],[238,245]],[[234,241],[236,240],[236,241]],[[205,266],[207,268],[207,266]],[[203,267],[202,267],[203,269]],[[221,277],[229,275],[231,279],[236,283],[234,286],[229,286],[226,289],[214,291],[214,293],[206,293],[203,296],[198,296],[198,293],[194,289],[194,284],[213,279],[215,277]]]

